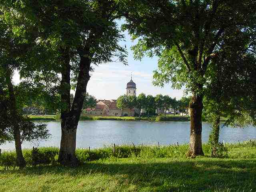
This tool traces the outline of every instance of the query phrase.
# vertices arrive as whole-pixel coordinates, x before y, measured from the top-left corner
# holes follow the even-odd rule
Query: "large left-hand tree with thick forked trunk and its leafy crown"
[[[24,2],[25,4],[25,2]],[[61,74],[61,130],[58,162],[77,166],[76,130],[92,64],[120,60],[126,64],[126,51],[118,45],[123,38],[117,28],[118,3],[113,0],[27,1],[29,14],[43,35],[38,42],[56,51],[54,72]],[[71,83],[73,82],[73,84]],[[72,86],[72,85],[75,85]],[[75,89],[70,103],[71,86]]]

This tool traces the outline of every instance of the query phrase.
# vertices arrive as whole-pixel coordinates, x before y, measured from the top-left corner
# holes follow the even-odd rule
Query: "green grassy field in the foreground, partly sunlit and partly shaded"
[[[169,148],[168,148],[169,147]],[[151,150],[149,149],[151,148]],[[149,147],[148,154],[102,158],[78,168],[59,165],[0,170],[1,192],[254,192],[256,146],[228,145],[229,158],[185,158],[187,146]],[[164,150],[162,149],[164,148]],[[177,150],[173,150],[176,148]],[[159,150],[159,155],[152,153]],[[166,151],[169,149],[169,151]],[[175,153],[180,154],[175,155]],[[169,153],[166,158],[165,153]],[[178,157],[180,156],[180,157]]]

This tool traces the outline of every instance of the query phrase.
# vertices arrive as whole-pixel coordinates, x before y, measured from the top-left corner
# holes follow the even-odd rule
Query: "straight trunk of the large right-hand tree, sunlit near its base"
[[[202,150],[202,96],[192,96],[190,110],[190,146],[187,156],[195,157],[198,155],[204,155]]]

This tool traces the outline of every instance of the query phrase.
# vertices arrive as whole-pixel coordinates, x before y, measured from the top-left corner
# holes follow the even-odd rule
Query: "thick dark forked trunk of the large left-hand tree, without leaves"
[[[76,130],[86,95],[87,83],[90,79],[90,59],[80,55],[80,70],[77,79],[76,93],[70,110],[70,58],[65,58],[62,67],[61,88],[62,102],[66,108],[61,111],[61,141],[58,162],[64,166],[78,166],[76,158]]]

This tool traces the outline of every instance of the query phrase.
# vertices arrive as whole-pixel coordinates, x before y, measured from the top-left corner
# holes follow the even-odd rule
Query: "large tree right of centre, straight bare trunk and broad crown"
[[[190,102],[190,147],[188,156],[203,155],[202,109],[209,64],[234,36],[248,38],[255,28],[256,2],[245,0],[132,1],[125,0],[124,16],[133,39],[134,56],[160,57],[154,84],[172,82],[173,88],[186,86]],[[145,14],[146,13],[146,14]],[[252,46],[250,44],[247,45]],[[239,48],[234,47],[234,49]]]

